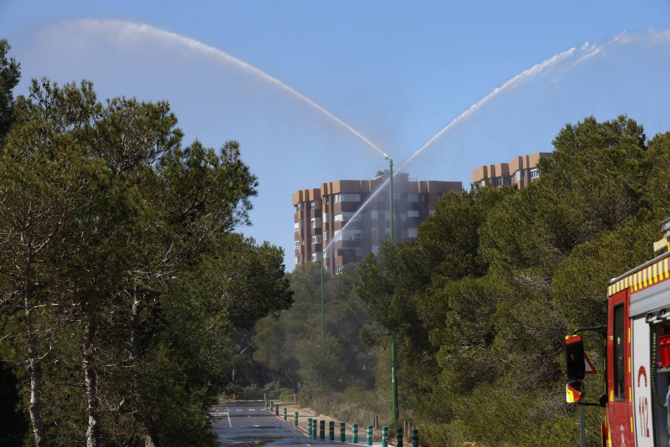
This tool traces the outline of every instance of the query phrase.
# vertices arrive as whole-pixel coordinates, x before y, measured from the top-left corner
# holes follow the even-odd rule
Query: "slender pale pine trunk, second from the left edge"
[[[86,383],[86,397],[88,397],[88,428],[86,429],[86,447],[98,447],[100,438],[100,421],[98,419],[98,375],[95,369],[94,342],[95,320],[88,304],[84,305],[86,329],[84,330],[84,344],[82,354],[84,358],[84,382]]]

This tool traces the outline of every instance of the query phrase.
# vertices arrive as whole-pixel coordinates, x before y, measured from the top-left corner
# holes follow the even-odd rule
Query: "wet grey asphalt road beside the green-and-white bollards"
[[[293,424],[283,422],[263,407],[263,401],[228,401],[210,407],[219,446],[340,446],[340,442],[308,439]]]

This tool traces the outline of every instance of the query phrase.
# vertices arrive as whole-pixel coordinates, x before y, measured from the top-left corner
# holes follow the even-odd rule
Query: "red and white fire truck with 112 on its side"
[[[565,337],[566,400],[604,407],[603,447],[669,446],[670,218],[661,232],[654,248],[668,251],[609,281],[607,324]],[[578,332],[589,330],[605,336],[604,393],[597,403],[584,400],[589,363]]]

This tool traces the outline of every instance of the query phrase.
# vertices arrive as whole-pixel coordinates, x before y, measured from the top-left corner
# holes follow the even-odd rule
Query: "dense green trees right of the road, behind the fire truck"
[[[648,140],[628,117],[587,117],[561,129],[553,145],[538,182],[443,196],[416,239],[385,241],[378,257],[350,267],[343,276],[357,277],[354,294],[326,292],[360,312],[347,321],[366,346],[343,351],[355,344],[354,328],[334,326],[340,317],[327,307],[326,349],[317,347],[319,269],[306,265],[289,276],[300,307],[259,322],[254,358],[314,405],[339,401],[332,411],[353,405],[390,422],[388,346],[396,340],[401,420],[419,426],[425,444],[578,445],[563,336],[603,324],[608,279],[654,256],[659,222],[670,215],[670,133]],[[602,364],[602,340],[587,341]],[[375,373],[374,385],[350,353],[367,356],[358,365]],[[591,401],[600,380],[587,383]],[[594,445],[602,418],[602,409],[587,408]]]

